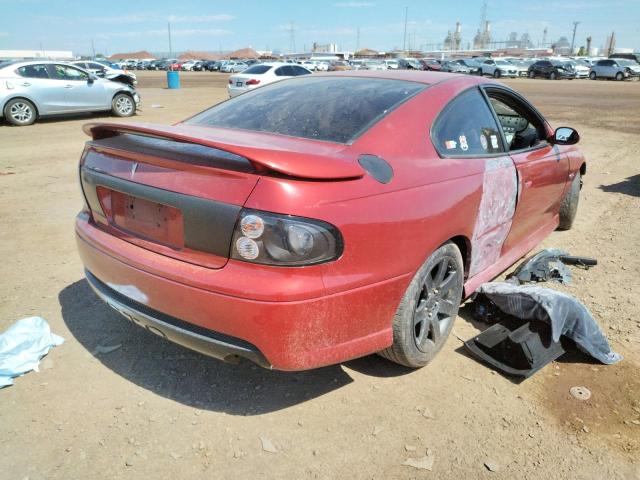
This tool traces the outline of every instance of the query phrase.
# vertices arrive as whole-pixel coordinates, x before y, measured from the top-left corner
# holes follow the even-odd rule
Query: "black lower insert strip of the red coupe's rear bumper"
[[[261,367],[272,368],[262,352],[253,344],[154,310],[105,285],[88,270],[85,270],[85,274],[98,297],[127,320],[151,333],[220,360],[239,356]]]

